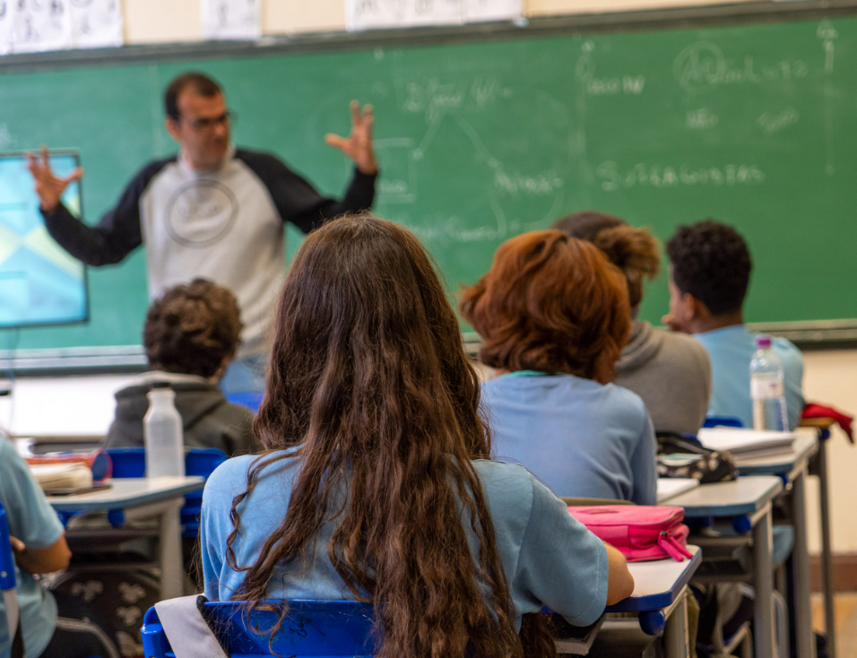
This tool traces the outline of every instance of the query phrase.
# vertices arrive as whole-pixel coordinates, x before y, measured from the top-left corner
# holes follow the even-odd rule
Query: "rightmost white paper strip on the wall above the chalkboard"
[[[458,25],[463,21],[463,0],[345,0],[349,31]]]

